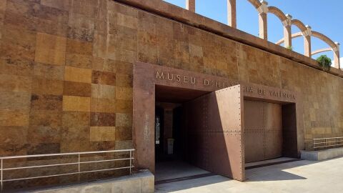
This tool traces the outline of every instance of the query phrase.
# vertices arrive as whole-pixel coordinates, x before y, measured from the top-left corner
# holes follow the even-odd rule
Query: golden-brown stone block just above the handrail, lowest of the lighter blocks
[[[116,127],[91,127],[90,141],[103,142],[116,140]]]

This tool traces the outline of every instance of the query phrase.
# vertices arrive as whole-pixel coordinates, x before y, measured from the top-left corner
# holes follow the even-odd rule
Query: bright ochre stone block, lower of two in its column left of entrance
[[[90,112],[91,98],[63,96],[64,112]]]

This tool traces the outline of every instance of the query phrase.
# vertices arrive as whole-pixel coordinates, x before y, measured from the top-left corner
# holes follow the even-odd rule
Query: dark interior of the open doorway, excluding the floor
[[[206,91],[156,85],[155,162],[189,162],[185,104],[207,94]],[[172,141],[168,149],[168,143]],[[169,152],[168,152],[169,150]]]

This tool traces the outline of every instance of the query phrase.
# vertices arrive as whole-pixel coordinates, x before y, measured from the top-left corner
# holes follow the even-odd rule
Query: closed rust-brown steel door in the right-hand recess
[[[282,157],[282,106],[244,101],[245,162]]]

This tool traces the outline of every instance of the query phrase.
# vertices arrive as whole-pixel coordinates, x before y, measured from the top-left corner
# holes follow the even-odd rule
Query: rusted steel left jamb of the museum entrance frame
[[[134,167],[155,172],[155,85],[154,71],[147,66],[135,66],[133,99]],[[151,159],[153,158],[153,159]]]

